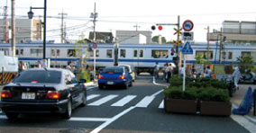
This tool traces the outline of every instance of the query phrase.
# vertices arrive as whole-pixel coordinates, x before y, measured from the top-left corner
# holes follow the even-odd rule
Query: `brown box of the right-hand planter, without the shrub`
[[[201,114],[202,115],[230,116],[231,109],[232,109],[231,102],[201,101]]]

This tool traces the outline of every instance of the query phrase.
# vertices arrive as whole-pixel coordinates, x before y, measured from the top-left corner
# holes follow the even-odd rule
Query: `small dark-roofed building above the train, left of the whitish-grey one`
[[[113,42],[112,32],[99,32],[96,31],[96,42],[97,43],[112,43]],[[94,32],[90,31],[89,40],[94,40]]]

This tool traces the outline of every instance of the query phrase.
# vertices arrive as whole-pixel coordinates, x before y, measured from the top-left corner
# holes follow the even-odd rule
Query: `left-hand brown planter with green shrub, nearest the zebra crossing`
[[[164,90],[164,94],[165,111],[197,113],[197,92],[195,88],[182,91],[181,86],[171,86]]]

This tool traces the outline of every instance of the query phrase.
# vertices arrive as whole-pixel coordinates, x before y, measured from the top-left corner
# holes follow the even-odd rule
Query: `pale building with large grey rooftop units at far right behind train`
[[[222,31],[209,33],[209,40],[225,37],[231,43],[256,43],[256,22],[224,21]]]

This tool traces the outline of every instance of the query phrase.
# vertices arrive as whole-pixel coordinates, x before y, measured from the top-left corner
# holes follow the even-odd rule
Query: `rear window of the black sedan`
[[[61,72],[45,70],[23,71],[14,79],[14,83],[60,83]]]

